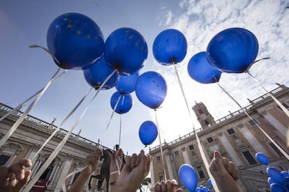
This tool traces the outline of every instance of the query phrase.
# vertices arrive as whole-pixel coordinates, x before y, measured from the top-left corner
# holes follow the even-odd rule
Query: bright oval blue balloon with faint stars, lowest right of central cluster
[[[151,109],[157,109],[167,95],[165,79],[157,72],[144,72],[138,78],[135,94],[142,104]]]

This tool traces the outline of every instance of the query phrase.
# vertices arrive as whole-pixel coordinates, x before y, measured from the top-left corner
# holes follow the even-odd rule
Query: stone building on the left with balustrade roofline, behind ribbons
[[[0,104],[0,118],[12,110],[13,108],[10,106]],[[21,115],[22,112],[16,110],[0,121],[0,138],[6,134],[8,129],[12,127]],[[0,165],[9,166],[22,158],[32,159],[47,138],[57,129],[53,123],[54,120],[51,123],[48,123],[31,115],[27,115],[8,141],[0,148]],[[43,150],[41,150],[38,157],[34,158],[34,161],[32,161],[31,178],[34,177],[40,166],[50,157],[50,154],[67,133],[68,131],[60,129],[47,145],[45,145]],[[66,176],[73,171],[80,170],[84,159],[88,154],[93,152],[97,146],[98,143],[89,141],[76,134],[71,134],[57,157],[52,161],[43,175],[41,175],[31,191],[62,191],[61,186],[64,182],[66,184],[66,189],[69,189],[79,173],[68,178],[66,178]],[[103,147],[103,149],[108,149],[104,146],[101,147]],[[94,175],[99,173],[101,164],[102,161]],[[96,179],[92,179],[91,181],[91,191],[97,191],[96,183],[98,181]],[[105,182],[103,182],[103,186],[104,185]],[[85,184],[84,191],[89,191],[88,184]]]

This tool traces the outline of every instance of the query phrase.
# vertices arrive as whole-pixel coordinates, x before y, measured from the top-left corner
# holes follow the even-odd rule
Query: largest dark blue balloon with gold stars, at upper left
[[[60,15],[47,31],[47,47],[59,67],[83,70],[103,55],[104,39],[96,22],[80,13]]]

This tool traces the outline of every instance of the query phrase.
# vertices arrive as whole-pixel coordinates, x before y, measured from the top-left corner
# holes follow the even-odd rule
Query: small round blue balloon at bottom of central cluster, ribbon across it
[[[131,97],[130,94],[121,95],[119,92],[115,92],[110,98],[110,106],[114,109],[116,105],[117,108],[115,109],[115,112],[119,114],[127,113],[133,106],[133,97]]]

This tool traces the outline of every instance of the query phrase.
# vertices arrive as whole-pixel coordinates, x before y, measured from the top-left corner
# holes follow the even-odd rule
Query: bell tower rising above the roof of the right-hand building
[[[192,109],[203,129],[207,129],[208,127],[216,124],[213,116],[209,113],[207,107],[202,102],[195,102],[195,106],[193,106]]]

